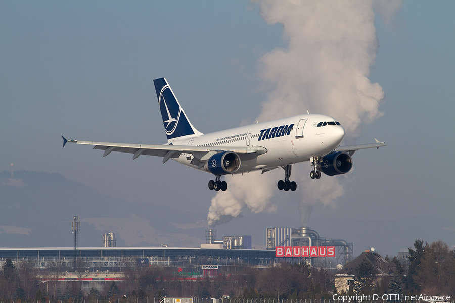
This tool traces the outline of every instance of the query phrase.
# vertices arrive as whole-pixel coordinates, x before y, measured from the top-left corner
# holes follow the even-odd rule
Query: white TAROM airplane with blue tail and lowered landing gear
[[[351,156],[356,150],[386,146],[375,143],[340,146],[345,137],[343,126],[334,118],[320,114],[302,114],[289,118],[256,123],[247,126],[203,134],[191,124],[165,78],[153,80],[158,105],[163,118],[167,144],[125,144],[67,140],[67,142],[93,145],[104,150],[103,157],[112,151],[163,157],[163,163],[172,159],[188,167],[211,173],[215,180],[208,182],[210,190],[226,191],[228,183],[221,176],[262,173],[276,168],[285,171],[278,189],[295,191],[297,184],[290,181],[293,164],[310,161],[311,179],[345,174],[352,168]]]

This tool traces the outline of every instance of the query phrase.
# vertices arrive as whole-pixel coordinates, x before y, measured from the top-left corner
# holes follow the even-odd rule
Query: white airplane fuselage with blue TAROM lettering
[[[319,126],[318,126],[319,125]],[[344,128],[332,117],[319,114],[267,121],[199,136],[177,139],[173,145],[215,146],[229,151],[230,147],[261,146],[267,153],[242,156],[236,173],[279,167],[327,155],[337,148],[345,136]],[[181,154],[173,160],[198,169],[191,164],[193,156]],[[199,170],[206,171],[203,167]]]

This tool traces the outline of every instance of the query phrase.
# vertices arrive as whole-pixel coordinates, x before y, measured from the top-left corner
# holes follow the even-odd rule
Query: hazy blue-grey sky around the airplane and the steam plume
[[[413,1],[386,22],[376,16],[379,48],[368,78],[382,86],[384,115],[362,123],[356,142],[377,138],[388,146],[355,153],[344,194],[331,206],[313,207],[311,228],[325,228],[322,218],[415,217],[420,226],[453,221],[454,11],[452,1]],[[17,170],[60,173],[131,204],[208,211],[209,174],[154,157],[132,161],[115,153],[102,158],[84,146],[63,149],[60,136],[165,143],[152,81],[159,77],[167,78],[201,132],[253,123],[271,91],[260,59],[288,41],[281,24],[268,25],[258,6],[244,1],[2,1],[0,170],[14,163]],[[309,179],[309,164],[296,170]],[[277,214],[295,220],[286,227],[299,227],[299,197],[275,195],[274,204]],[[217,233],[230,234],[242,220]],[[455,245],[455,229],[447,228],[450,236],[441,240]],[[354,246],[360,241],[337,234],[336,226],[324,231]],[[402,247],[383,251],[411,247],[419,235],[400,237]],[[437,231],[432,237],[423,240],[440,239]]]

